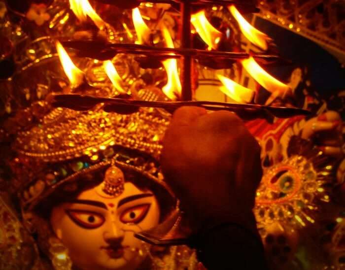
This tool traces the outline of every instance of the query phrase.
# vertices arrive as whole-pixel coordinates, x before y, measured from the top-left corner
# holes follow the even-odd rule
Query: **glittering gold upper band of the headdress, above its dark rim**
[[[46,162],[87,155],[97,160],[96,152],[107,146],[122,145],[158,156],[168,118],[154,109],[121,115],[101,107],[87,112],[57,108],[30,131],[22,132],[15,149],[23,156]]]

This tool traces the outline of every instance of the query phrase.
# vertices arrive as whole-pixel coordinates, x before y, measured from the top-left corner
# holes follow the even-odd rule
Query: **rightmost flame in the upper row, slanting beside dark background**
[[[266,51],[268,49],[267,41],[270,40],[270,37],[251,26],[234,5],[230,5],[228,8],[238,22],[242,34],[244,34],[251,43]]]

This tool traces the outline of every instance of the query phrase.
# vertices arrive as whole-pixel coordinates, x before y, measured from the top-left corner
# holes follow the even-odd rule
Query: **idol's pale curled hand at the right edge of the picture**
[[[342,119],[339,113],[328,111],[308,120],[301,136],[304,139],[313,139],[326,155],[341,158],[341,127]]]

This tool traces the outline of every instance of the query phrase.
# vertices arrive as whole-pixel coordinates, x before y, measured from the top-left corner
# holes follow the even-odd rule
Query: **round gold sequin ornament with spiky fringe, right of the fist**
[[[296,155],[265,170],[254,208],[259,228],[276,221],[303,227],[315,222],[316,200],[330,201],[326,188],[330,166],[320,169],[313,161]]]

